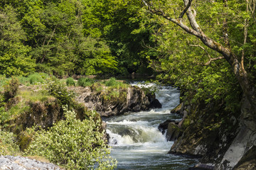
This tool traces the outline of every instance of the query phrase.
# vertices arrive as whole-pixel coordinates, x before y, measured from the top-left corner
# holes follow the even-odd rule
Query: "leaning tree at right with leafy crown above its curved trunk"
[[[251,135],[256,128],[255,1],[183,0],[181,3],[142,0],[142,3],[151,13],[174,23],[184,33],[201,40],[203,45],[188,42],[186,46],[199,47],[206,52],[209,60],[204,65],[223,58],[230,65],[244,96],[240,123],[245,129],[240,130],[238,135]],[[213,52],[217,52],[217,55],[210,55]],[[233,145],[239,145],[240,142],[236,138]],[[252,146],[247,143],[243,152],[247,152]],[[242,157],[243,152],[238,157]]]

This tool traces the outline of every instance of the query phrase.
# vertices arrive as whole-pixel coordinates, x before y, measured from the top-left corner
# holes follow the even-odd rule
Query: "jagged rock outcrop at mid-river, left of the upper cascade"
[[[118,96],[112,96],[112,91],[105,89],[97,91],[89,87],[76,87],[74,89],[79,103],[91,110],[96,110],[102,116],[120,115],[126,112],[146,111],[149,108],[161,108],[161,103],[152,96],[144,94],[137,86],[127,89],[112,89]]]

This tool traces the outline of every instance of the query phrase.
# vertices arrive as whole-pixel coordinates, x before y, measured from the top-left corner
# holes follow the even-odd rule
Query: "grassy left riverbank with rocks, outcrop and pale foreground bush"
[[[66,83],[68,84],[68,82],[73,84],[73,81],[68,81],[67,79]],[[85,79],[84,82],[87,83],[87,80]],[[4,145],[4,152],[1,153],[36,154],[46,157],[50,162],[61,164],[67,169],[92,166],[90,164],[108,166],[108,169],[112,169],[115,166],[115,162],[110,157],[107,157],[110,150],[107,147],[105,125],[102,125],[104,123],[102,123],[100,114],[90,109],[101,108],[102,111],[98,111],[101,112],[102,116],[104,116],[103,113],[108,108],[114,108],[112,112],[109,112],[111,113],[110,115],[114,115],[114,113],[122,114],[125,111],[148,110],[153,107],[152,103],[157,101],[156,98],[154,95],[145,94],[138,87],[125,85],[114,79],[104,81],[103,84],[96,82],[91,84],[90,87],[67,87],[63,83],[57,79],[50,78],[46,82],[42,81],[37,85],[27,84],[24,86],[23,84],[20,86],[18,79],[9,80],[9,83],[4,86],[4,94],[1,94],[4,96],[5,101],[1,103],[4,106],[4,113],[1,113],[1,129],[4,131],[1,131],[1,136],[4,137],[4,134],[9,135],[9,139],[5,140],[4,138],[1,140]],[[87,91],[88,89],[89,91]],[[73,98],[75,97],[74,91],[82,91],[82,93],[77,93],[77,98]],[[87,96],[83,98],[82,94],[85,94],[85,91],[87,91]],[[7,94],[14,95],[9,95],[9,98],[7,98]],[[95,98],[87,98],[91,96],[97,98],[98,105],[96,104],[89,108],[86,106],[87,103],[97,103],[93,101]],[[79,100],[75,100],[78,98],[80,98],[81,103],[79,103]],[[118,102],[122,103],[121,99],[127,101],[128,104],[116,107]],[[65,107],[63,108],[63,106]],[[119,112],[122,110],[124,111]],[[3,117],[3,115],[5,116]],[[72,131],[75,131],[71,132],[69,127]],[[90,135],[89,132],[92,134]],[[81,136],[82,139],[80,139],[79,134],[83,134]],[[56,138],[55,135],[58,135],[59,138]],[[95,139],[90,139],[93,137]],[[13,143],[10,144],[10,140]],[[75,145],[76,142],[74,143],[74,141],[79,142],[81,145]],[[92,144],[87,145],[88,142],[92,142]],[[45,149],[41,150],[40,148],[44,145],[46,145]],[[87,149],[83,149],[81,152],[79,147]],[[72,149],[70,150],[70,148]],[[61,156],[63,152],[59,152],[63,149],[65,150],[65,157]],[[100,150],[94,152],[97,149]],[[80,156],[69,157],[68,154],[70,153],[75,155],[80,153]],[[99,155],[99,153],[103,155]],[[86,164],[83,166],[80,166],[80,163],[71,164],[74,161],[80,162],[84,159],[91,159],[89,157],[92,157],[92,163],[85,162]],[[98,157],[104,159],[97,159]]]

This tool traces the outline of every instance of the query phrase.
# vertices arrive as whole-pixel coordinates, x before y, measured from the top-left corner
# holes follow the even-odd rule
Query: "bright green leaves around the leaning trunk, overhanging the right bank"
[[[225,8],[222,1],[214,3],[198,1],[193,6],[196,6],[196,19],[204,33],[222,44],[225,44],[223,40],[224,20],[233,21],[233,18],[236,18],[234,23],[228,23],[228,28],[230,29],[228,30],[228,37],[230,38],[230,48],[234,49],[236,51],[235,54],[240,57],[241,50],[245,49],[245,47],[241,47],[244,40],[244,32],[241,27],[238,27],[238,23],[245,21],[245,16],[242,14],[242,11],[245,10],[245,4],[235,3],[235,1],[229,2],[230,6],[233,6],[232,8],[230,6]],[[176,18],[174,11],[183,10],[183,5],[181,6],[175,1],[169,2],[175,10],[171,10],[165,1],[151,1],[151,3],[159,6],[165,13],[174,18]],[[158,60],[149,57],[150,66],[161,73],[158,75],[159,79],[175,84],[181,87],[183,91],[189,91],[186,96],[193,98],[193,103],[198,101],[204,101],[205,103],[220,101],[228,111],[235,113],[240,110],[242,90],[230,65],[225,59],[209,62],[209,58],[213,59],[221,56],[218,52],[206,47],[200,39],[184,34],[181,28],[178,28],[174,23],[166,21],[164,18],[151,16],[151,14],[145,15],[145,17],[149,18],[149,20],[154,18],[155,21],[161,24],[161,28],[157,29],[152,35],[157,45],[151,49],[159,52]],[[189,25],[186,16],[183,17],[182,21],[184,24]],[[251,43],[249,41],[248,43]],[[236,46],[240,48],[240,51],[237,50]],[[247,45],[246,47],[249,50]],[[250,48],[252,50],[254,47],[250,46]],[[250,53],[250,50],[247,52]],[[253,64],[252,60],[250,62],[250,57],[247,57],[246,64],[247,68],[250,67],[249,70],[252,72],[250,65]]]

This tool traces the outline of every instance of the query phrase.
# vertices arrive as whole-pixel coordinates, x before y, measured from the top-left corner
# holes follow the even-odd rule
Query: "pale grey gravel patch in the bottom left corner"
[[[60,167],[46,163],[39,162],[35,159],[28,159],[26,157],[0,156],[0,169],[46,169],[46,170],[61,170]]]

